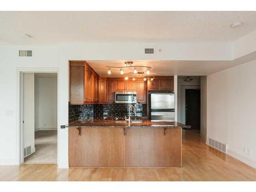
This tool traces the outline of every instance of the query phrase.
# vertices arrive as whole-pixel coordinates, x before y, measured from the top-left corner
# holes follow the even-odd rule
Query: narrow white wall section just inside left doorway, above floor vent
[[[34,73],[24,73],[23,76],[23,148],[31,146],[31,152],[35,152],[35,107],[34,107]]]

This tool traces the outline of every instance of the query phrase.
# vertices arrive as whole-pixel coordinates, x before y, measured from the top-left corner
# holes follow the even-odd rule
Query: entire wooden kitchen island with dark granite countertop
[[[178,122],[75,121],[69,127],[70,167],[181,166]]]

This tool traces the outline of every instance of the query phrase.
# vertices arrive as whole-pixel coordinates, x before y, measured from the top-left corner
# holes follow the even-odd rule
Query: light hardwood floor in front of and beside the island
[[[256,169],[207,146],[185,131],[182,167],[70,168],[56,164],[0,166],[0,181],[256,181]]]

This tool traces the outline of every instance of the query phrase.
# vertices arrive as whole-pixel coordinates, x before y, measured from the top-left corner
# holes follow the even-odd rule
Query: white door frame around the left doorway
[[[59,68],[17,68],[17,165],[24,163],[23,153],[23,74],[24,73],[57,73],[57,124],[59,124]],[[57,127],[58,128],[58,127]],[[59,149],[57,129],[57,159]],[[56,162],[57,164],[57,162]]]

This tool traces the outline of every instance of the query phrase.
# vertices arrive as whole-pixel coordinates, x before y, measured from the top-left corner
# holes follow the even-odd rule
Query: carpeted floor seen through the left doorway
[[[35,132],[35,153],[25,163],[57,163],[57,131]]]

